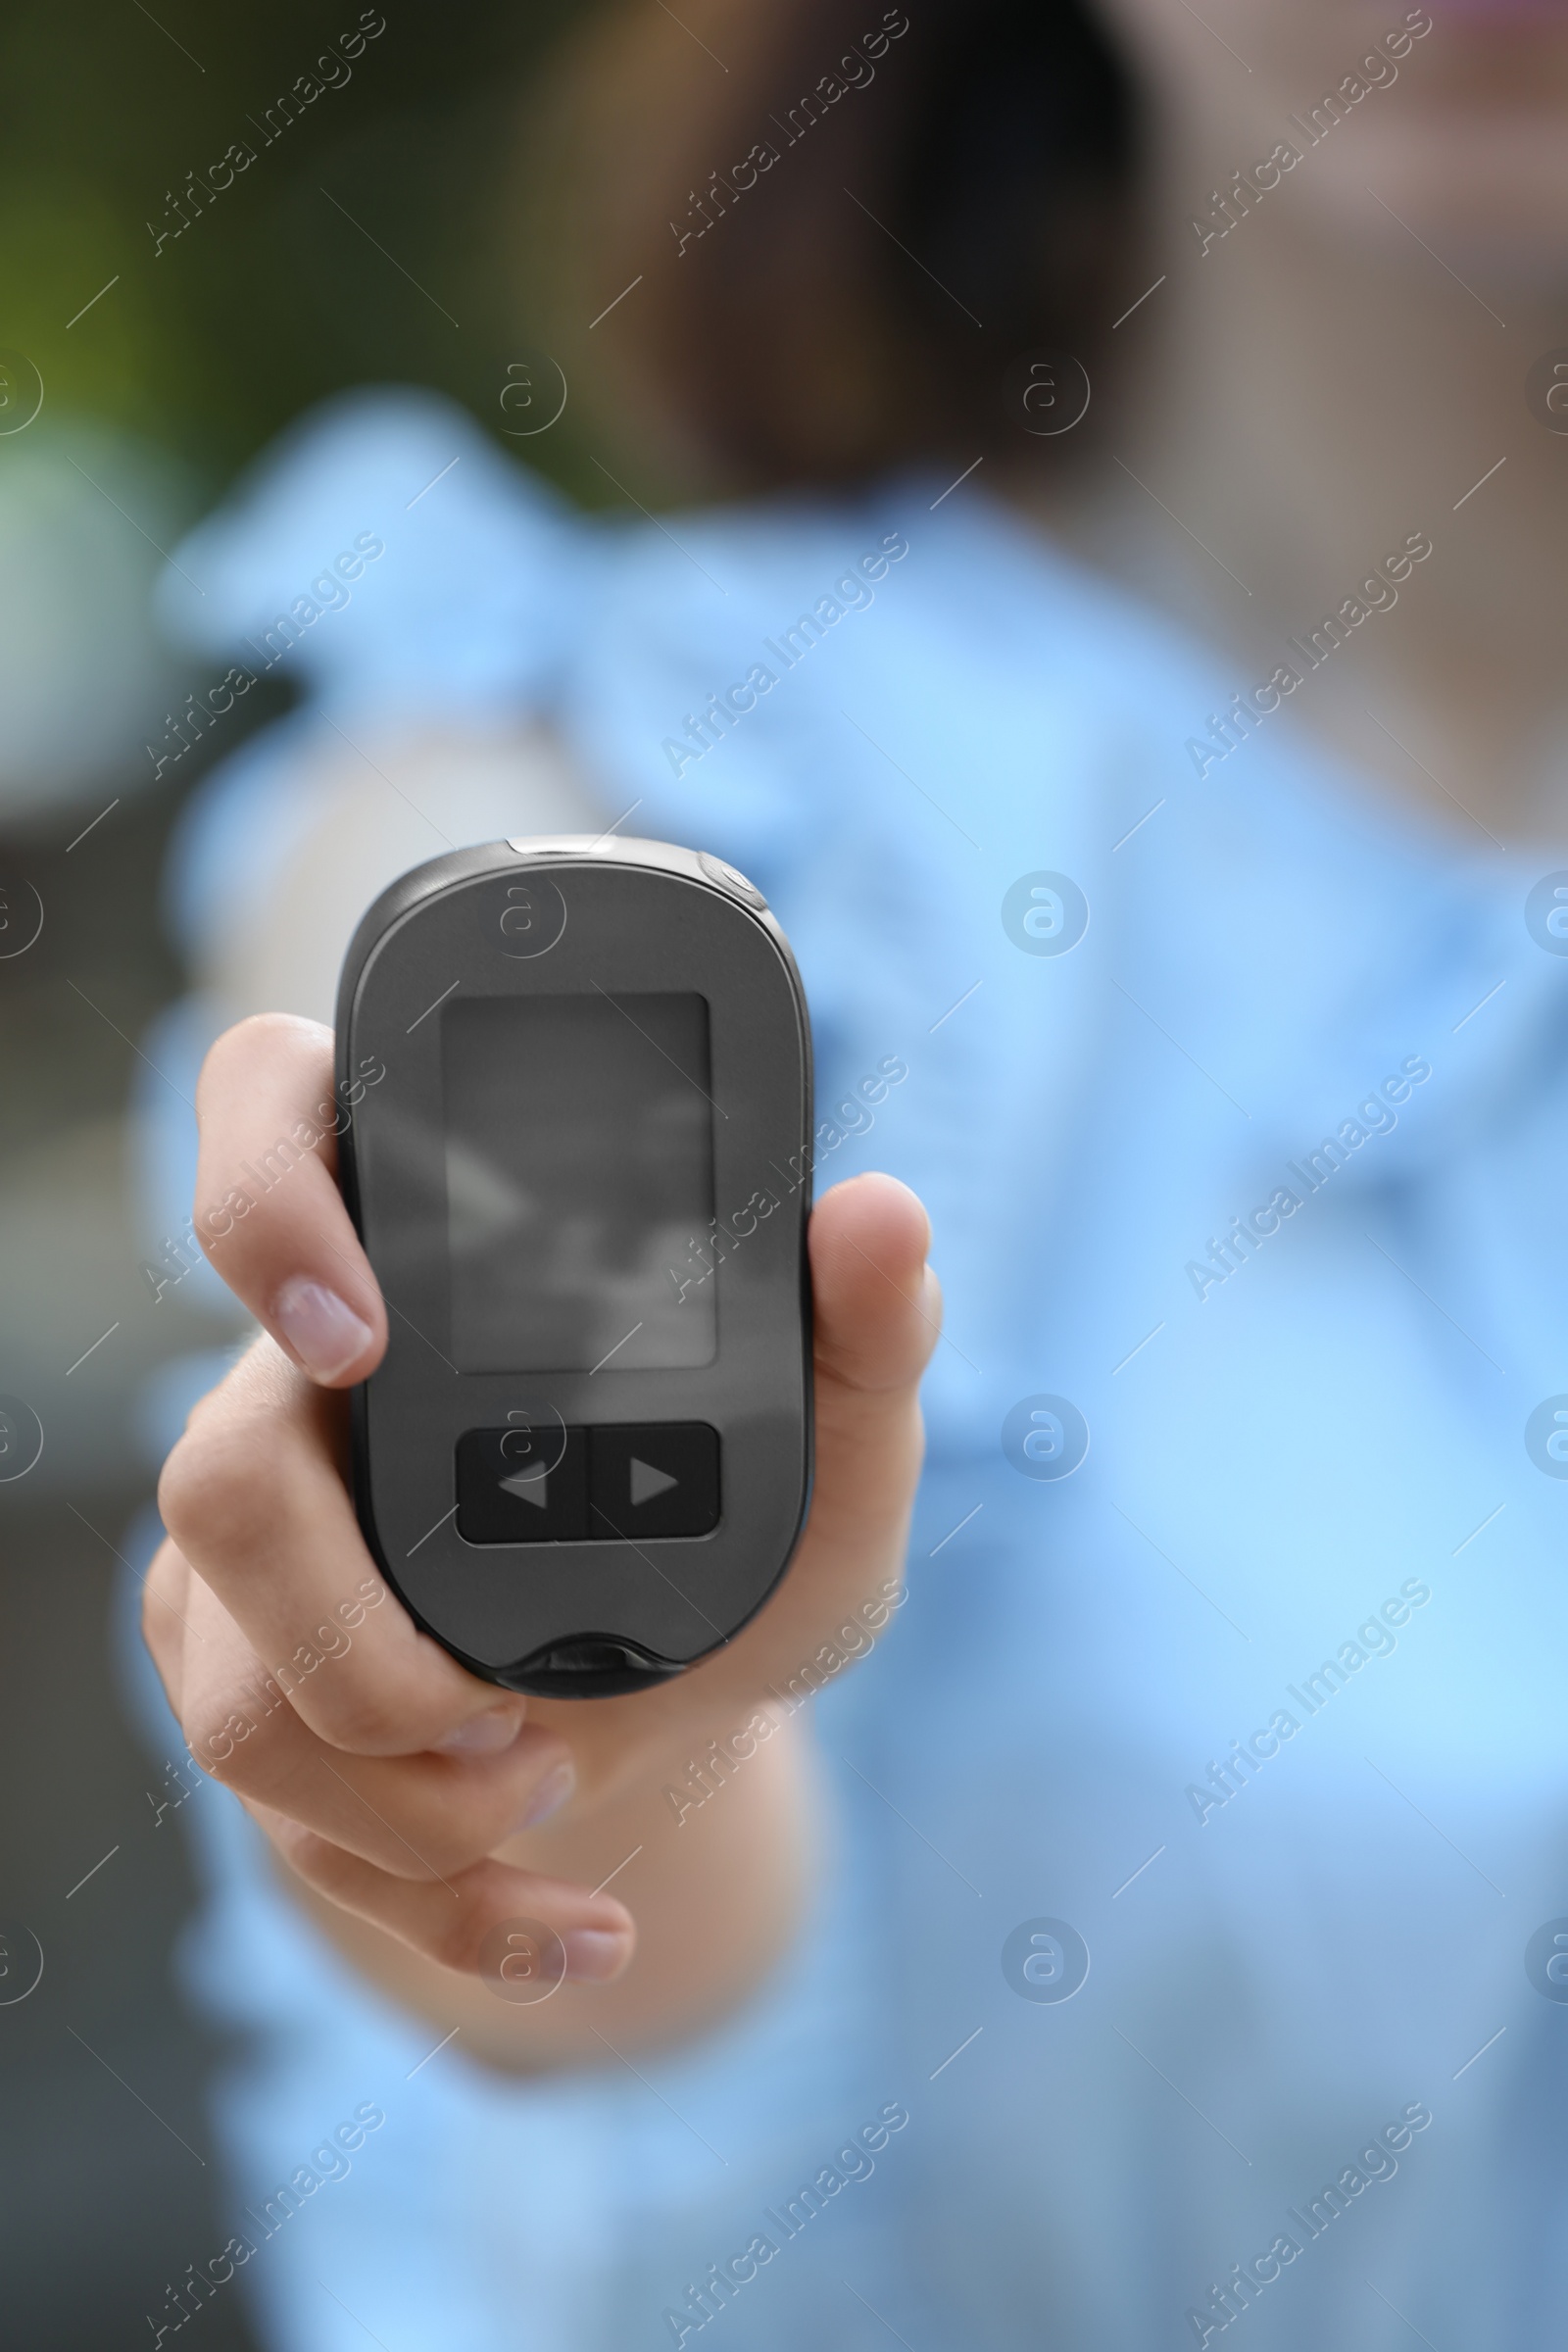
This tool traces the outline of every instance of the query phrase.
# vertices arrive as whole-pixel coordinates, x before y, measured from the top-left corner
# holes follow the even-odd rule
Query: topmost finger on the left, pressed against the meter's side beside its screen
[[[386,1308],[334,1181],[350,1108],[334,1094],[331,1030],[240,1021],[202,1063],[195,1115],[195,1230],[212,1265],[313,1381],[364,1381]]]

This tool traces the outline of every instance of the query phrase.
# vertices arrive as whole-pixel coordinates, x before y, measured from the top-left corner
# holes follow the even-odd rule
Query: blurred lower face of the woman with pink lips
[[[1403,221],[1495,278],[1568,270],[1568,0],[1100,5],[1173,169],[1201,162],[1204,186],[1173,191],[1192,216],[1286,141],[1302,216],[1333,238],[1399,240]]]

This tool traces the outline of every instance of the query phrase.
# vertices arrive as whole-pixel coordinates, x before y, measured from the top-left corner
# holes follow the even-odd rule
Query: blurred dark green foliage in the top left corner
[[[207,496],[299,409],[350,383],[430,383],[498,426],[505,362],[529,341],[508,263],[520,118],[578,7],[386,0],[369,14],[386,31],[353,80],[263,148],[247,118],[357,26],[355,0],[158,0],[155,14],[139,0],[12,0],[0,346],[38,365],[52,416],[172,447]],[[256,162],[155,252],[169,191],[230,139],[249,139]],[[569,430],[531,459],[588,499],[602,492],[602,477],[581,480]]]

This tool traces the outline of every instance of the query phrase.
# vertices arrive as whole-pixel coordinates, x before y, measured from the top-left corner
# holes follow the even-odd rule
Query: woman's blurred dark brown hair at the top
[[[1023,440],[1011,365],[1131,299],[1133,87],[1079,0],[639,5],[571,80],[555,339],[715,487]]]

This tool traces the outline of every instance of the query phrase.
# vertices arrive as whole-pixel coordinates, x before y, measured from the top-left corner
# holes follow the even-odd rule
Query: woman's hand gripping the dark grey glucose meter
[[[654,1825],[637,1903],[661,1915],[658,1870],[689,1877],[698,1851],[689,1832],[679,1844],[679,1811],[658,1809],[661,1783],[748,1722],[755,1748],[757,1717],[771,1731],[788,1712],[773,1686],[799,1682],[825,1644],[853,1653],[886,1623],[922,1454],[914,1390],[940,1315],[926,1216],[891,1176],[858,1176],[811,1218],[816,1491],[759,1616],[661,1689],[520,1698],[418,1632],[360,1538],[343,1390],[376,1367],[388,1327],[334,1183],[331,1134],[235,1214],[235,1192],[256,1195],[244,1162],[303,1124],[329,1127],[329,1103],[331,1033],[317,1023],[244,1021],[207,1056],[195,1228],[270,1338],[202,1399],[169,1456],[146,1639],[195,1759],[327,1905],[465,1973],[503,1922],[536,1919],[562,1938],[571,1978],[604,1980],[625,1969],[635,1924],[614,1893],[588,1891],[609,1851],[602,1825]],[[759,1797],[776,1785],[769,1771],[752,1780]],[[736,1799],[729,1832],[743,1809]],[[748,1889],[733,1835],[724,1844],[733,1910]],[[703,1910],[684,1882],[675,1907]],[[701,1955],[670,1957],[691,1997]]]

